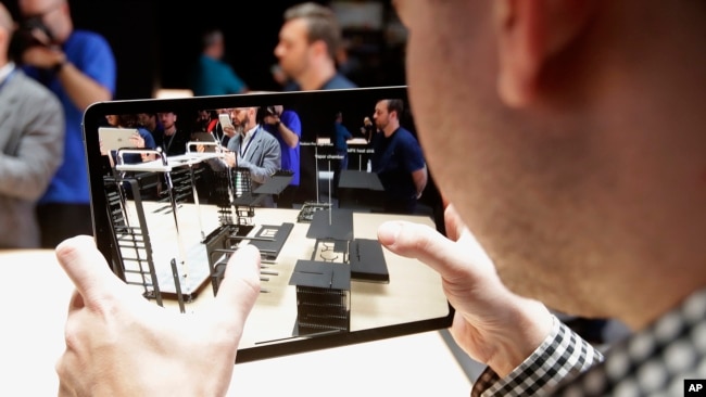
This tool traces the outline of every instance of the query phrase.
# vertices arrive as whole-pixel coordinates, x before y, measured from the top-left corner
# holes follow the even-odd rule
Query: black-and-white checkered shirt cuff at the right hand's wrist
[[[575,377],[603,355],[554,318],[552,332],[542,344],[504,379],[487,368],[475,382],[471,396],[546,395],[560,381]]]

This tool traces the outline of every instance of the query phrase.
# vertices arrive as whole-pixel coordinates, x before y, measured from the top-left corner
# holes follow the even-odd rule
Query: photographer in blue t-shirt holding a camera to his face
[[[62,164],[37,207],[41,245],[49,248],[92,234],[81,117],[91,103],[113,98],[115,59],[103,37],[74,29],[66,0],[20,0],[18,5],[17,60],[59,97],[66,123]]]

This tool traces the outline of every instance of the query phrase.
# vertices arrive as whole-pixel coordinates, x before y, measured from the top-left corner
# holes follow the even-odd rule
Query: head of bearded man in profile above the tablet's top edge
[[[275,55],[282,72],[297,80],[322,62],[333,64],[340,40],[340,27],[329,8],[302,3],[285,12]]]

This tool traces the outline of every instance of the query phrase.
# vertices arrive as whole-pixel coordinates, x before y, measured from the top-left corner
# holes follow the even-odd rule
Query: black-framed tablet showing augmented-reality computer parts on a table
[[[343,170],[346,180],[370,179],[363,174],[368,161],[376,164],[386,156],[383,141],[348,155],[336,152],[333,145],[317,144],[326,139],[333,142],[340,128],[363,138],[355,135],[383,99],[404,103],[407,111],[402,126],[416,139],[405,87],[91,105],[83,126],[99,249],[136,293],[165,310],[189,313],[217,295],[228,257],[243,244],[255,245],[262,256],[261,293],[245,323],[236,362],[450,326],[453,309],[440,276],[416,259],[392,254],[377,241],[378,227],[388,220],[424,223],[443,233],[442,201],[433,180],[429,178],[413,210],[391,207],[390,198],[400,187],[387,185],[389,178],[370,176],[382,182],[387,189],[382,191],[365,183],[335,185],[336,175]],[[201,139],[207,137],[198,133],[202,128],[199,111],[263,112],[273,105],[283,106],[281,123],[299,121],[301,138],[294,149],[280,143],[290,159],[287,170],[256,189],[250,169],[224,168],[225,163],[213,153],[187,153],[180,155],[188,158],[182,162],[163,155],[155,162],[116,169],[100,156],[96,132],[105,115],[174,112],[177,128]],[[338,113],[343,115],[342,125],[336,125]],[[261,120],[260,116],[255,119]],[[277,137],[275,129],[268,132]],[[269,133],[259,139],[272,139]],[[291,162],[294,155],[299,166]],[[122,172],[121,167],[137,172]],[[155,177],[148,178],[151,174]],[[160,181],[156,194],[155,180]],[[295,188],[293,181],[299,183]],[[293,197],[292,205],[282,200],[286,194]]]

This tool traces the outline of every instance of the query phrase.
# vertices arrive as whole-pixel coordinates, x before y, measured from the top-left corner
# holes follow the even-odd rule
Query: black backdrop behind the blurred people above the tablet
[[[18,18],[16,0],[1,0]],[[200,52],[200,35],[220,28],[226,61],[253,90],[279,90],[270,66],[285,10],[301,1],[157,1],[70,0],[74,27],[101,34],[117,63],[115,99],[151,98],[157,88],[187,88],[191,64]],[[327,4],[328,1],[317,1]],[[391,1],[386,20],[394,16]],[[357,53],[364,67],[361,87],[404,85],[403,49],[384,44],[379,31],[345,31],[366,43]],[[358,41],[361,41],[358,40]],[[356,55],[354,53],[353,55]]]

